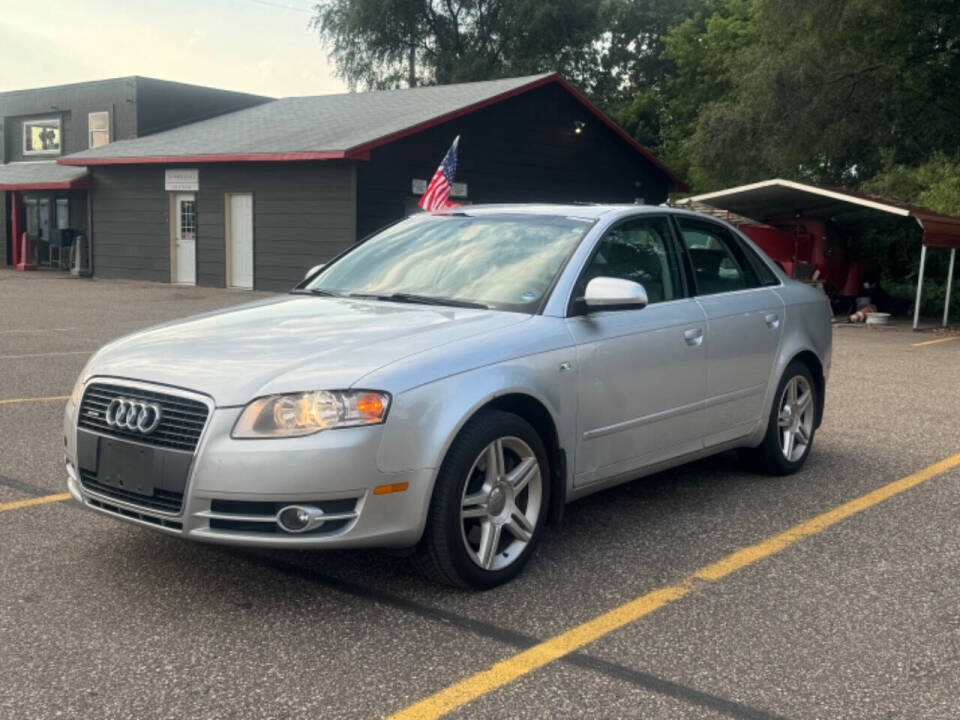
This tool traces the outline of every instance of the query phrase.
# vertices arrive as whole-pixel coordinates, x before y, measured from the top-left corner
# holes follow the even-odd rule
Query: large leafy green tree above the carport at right
[[[858,185],[890,162],[960,150],[955,2],[721,0],[713,17],[738,5],[745,42],[733,52],[697,45],[708,32],[684,44],[683,25],[666,42],[673,98],[685,65],[713,66],[705,77],[723,89],[703,100],[694,85],[691,104],[669,107],[664,134],[687,133],[680,154],[698,189],[775,175]],[[705,57],[689,61],[691,47]]]

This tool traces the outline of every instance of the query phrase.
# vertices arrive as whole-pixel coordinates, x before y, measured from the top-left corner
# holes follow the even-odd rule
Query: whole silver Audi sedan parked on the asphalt
[[[405,548],[489,588],[590,493],[735,448],[798,470],[830,352],[826,297],[712,218],[421,214],[288,295],[103,347],[67,403],[67,486],[174,536]]]

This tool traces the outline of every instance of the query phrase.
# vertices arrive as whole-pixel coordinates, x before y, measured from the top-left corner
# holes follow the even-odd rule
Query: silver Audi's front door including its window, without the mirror
[[[577,344],[579,417],[575,485],[702,447],[706,322],[681,277],[666,217],[634,218],[600,241],[574,289],[595,277],[633,280],[649,304],[568,319]]]

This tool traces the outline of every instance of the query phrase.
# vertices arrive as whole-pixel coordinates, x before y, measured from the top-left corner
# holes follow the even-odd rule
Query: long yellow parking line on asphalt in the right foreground
[[[799,525],[794,525],[789,530],[767,538],[756,545],[731,553],[715,563],[700,568],[675,585],[658,588],[646,595],[641,595],[582,625],[545,640],[529,650],[518,653],[465,680],[450,685],[391,715],[388,720],[413,720],[414,718],[427,720],[442,717],[497,688],[503,687],[564,655],[580,649],[584,645],[599,640],[614,630],[635,622],[665,605],[680,600],[693,592],[698,584],[715,582],[748,565],[775,555],[811,535],[826,530],[841,520],[863,512],[867,508],[873,507],[931,478],[942,475],[957,466],[960,466],[960,453],[934,463],[913,475],[895,480],[866,495],[845,502],[843,505],[839,505]]]

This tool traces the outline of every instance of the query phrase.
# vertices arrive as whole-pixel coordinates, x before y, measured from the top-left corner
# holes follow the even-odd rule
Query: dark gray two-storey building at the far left
[[[57,256],[51,245],[88,232],[89,174],[59,158],[267,100],[144,77],[0,93],[0,265],[23,232],[28,261],[41,264]]]

